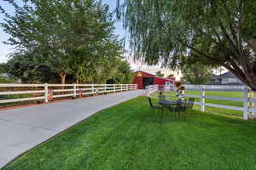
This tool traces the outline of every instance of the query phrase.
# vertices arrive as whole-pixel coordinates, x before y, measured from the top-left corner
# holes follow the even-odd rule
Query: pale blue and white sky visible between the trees
[[[21,0],[15,0],[16,3],[21,3]],[[113,12],[113,10],[116,8],[116,0],[103,0],[103,3],[107,3],[109,5],[110,12]],[[12,8],[8,3],[4,2],[3,0],[0,0],[1,6],[9,12],[9,14],[14,14],[14,8]],[[3,14],[0,14],[0,22],[3,22]],[[127,32],[124,30],[122,22],[117,21],[114,24],[115,26],[115,34],[119,35],[119,38],[125,37]],[[12,53],[14,51],[14,48],[12,46],[6,45],[3,42],[8,39],[9,35],[6,34],[3,31],[3,28],[0,27],[0,63],[6,62],[8,58],[8,54]],[[128,48],[126,46],[125,48]],[[181,77],[181,74],[178,74],[177,72],[171,71],[168,68],[161,68],[160,65],[156,66],[148,66],[144,65],[143,63],[139,61],[135,61],[132,56],[129,56],[128,54],[125,54],[125,58],[127,61],[131,64],[131,68],[134,71],[147,71],[149,73],[154,74],[156,71],[161,71],[165,74],[165,76],[169,74],[174,74],[177,80]]]

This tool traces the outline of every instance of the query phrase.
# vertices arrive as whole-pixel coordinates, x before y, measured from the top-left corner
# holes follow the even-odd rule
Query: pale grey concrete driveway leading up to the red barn
[[[143,90],[0,111],[0,169],[26,150]]]

